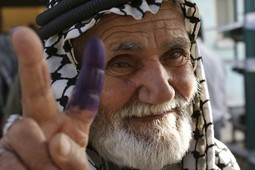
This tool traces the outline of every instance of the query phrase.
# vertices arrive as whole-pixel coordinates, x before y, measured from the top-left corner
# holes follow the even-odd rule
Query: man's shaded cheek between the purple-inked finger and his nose
[[[110,118],[132,99],[134,93],[134,83],[106,75],[100,96],[99,113],[104,113]]]

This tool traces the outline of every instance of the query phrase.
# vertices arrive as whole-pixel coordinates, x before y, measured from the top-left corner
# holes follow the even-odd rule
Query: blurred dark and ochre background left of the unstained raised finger
[[[35,16],[45,5],[46,0],[0,0],[0,129],[8,114],[20,112],[17,59],[9,32],[19,25],[37,29]]]

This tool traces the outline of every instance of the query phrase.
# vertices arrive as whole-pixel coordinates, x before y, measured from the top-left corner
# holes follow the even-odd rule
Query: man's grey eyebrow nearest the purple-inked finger
[[[112,45],[111,51],[141,50],[143,45],[137,42],[120,42]]]

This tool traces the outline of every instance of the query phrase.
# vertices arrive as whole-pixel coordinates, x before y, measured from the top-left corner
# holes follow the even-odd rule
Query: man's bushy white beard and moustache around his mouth
[[[160,170],[180,162],[191,140],[191,116],[183,109],[188,102],[177,97],[162,105],[133,103],[109,120],[99,113],[92,124],[90,142],[98,153],[120,167]],[[134,128],[127,117],[173,110],[162,119]],[[131,114],[130,114],[131,113]]]

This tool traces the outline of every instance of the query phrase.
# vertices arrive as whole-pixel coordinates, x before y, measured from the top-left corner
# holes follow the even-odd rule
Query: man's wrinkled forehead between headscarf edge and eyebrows
[[[88,39],[90,36],[96,35],[104,40],[112,32],[128,32],[131,34],[132,32],[146,32],[159,29],[178,29],[179,32],[185,32],[183,13],[180,10],[180,6],[178,8],[176,6],[178,5],[169,1],[163,2],[158,13],[152,14],[146,12],[141,20],[135,20],[131,16],[121,16],[111,13],[103,16],[93,28],[76,39],[81,39],[81,37],[82,39]]]

